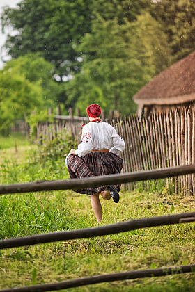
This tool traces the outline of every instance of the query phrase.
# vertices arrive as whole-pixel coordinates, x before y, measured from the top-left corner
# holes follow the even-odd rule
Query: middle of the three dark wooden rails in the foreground
[[[0,250],[3,248],[16,248],[18,246],[36,245],[40,243],[50,243],[54,241],[68,241],[71,239],[90,238],[108,234],[118,234],[135,229],[155,227],[162,225],[173,225],[195,221],[195,212],[181,213],[176,215],[166,215],[152,218],[143,218],[120,222],[113,225],[101,227],[70,230],[66,232],[52,232],[49,234],[36,234],[33,236],[12,238],[0,241]]]

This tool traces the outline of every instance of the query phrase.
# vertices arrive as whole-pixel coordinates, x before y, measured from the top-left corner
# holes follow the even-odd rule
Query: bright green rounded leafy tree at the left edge
[[[61,87],[50,73],[54,66],[38,54],[10,60],[0,70],[0,131],[7,133],[24,113],[54,106]]]

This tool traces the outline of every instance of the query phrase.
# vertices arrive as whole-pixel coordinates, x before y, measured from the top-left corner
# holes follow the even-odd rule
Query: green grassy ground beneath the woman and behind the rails
[[[20,146],[20,145],[19,145]],[[13,158],[1,150],[1,184],[39,179],[68,179],[64,161],[45,167],[32,163],[21,145]],[[22,162],[20,158],[22,157]],[[26,160],[25,160],[26,157]],[[103,201],[103,222],[115,222],[194,211],[194,197],[134,190],[121,192],[120,202]],[[163,193],[163,194],[162,194]],[[13,238],[98,226],[90,197],[71,190],[3,195],[0,236]],[[0,288],[61,282],[77,277],[195,263],[194,223],[138,229],[98,238],[47,243],[0,251]],[[135,279],[95,284],[65,291],[195,291],[195,275]]]

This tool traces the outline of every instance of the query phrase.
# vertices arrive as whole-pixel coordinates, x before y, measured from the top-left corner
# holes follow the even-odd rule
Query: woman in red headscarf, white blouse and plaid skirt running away
[[[81,143],[72,149],[66,159],[70,179],[95,177],[120,173],[123,159],[119,157],[125,149],[125,142],[114,127],[100,120],[101,108],[91,104],[86,112],[90,122],[82,128]],[[91,206],[98,222],[102,221],[102,205],[99,196],[104,200],[113,198],[119,201],[120,184],[74,190],[77,193],[91,195]]]

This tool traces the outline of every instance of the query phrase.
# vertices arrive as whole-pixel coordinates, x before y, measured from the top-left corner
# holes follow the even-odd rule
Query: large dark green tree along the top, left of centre
[[[41,52],[45,60],[55,64],[55,73],[68,75],[78,72],[75,46],[85,33],[91,33],[91,24],[97,15],[103,19],[117,18],[132,22],[150,0],[23,0],[17,8],[4,8],[3,28],[12,26],[17,35],[8,36],[6,47],[13,58],[29,51]]]

